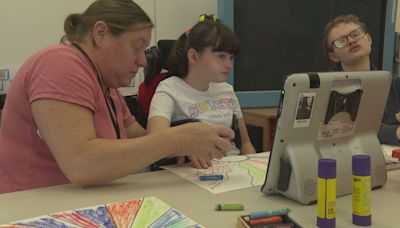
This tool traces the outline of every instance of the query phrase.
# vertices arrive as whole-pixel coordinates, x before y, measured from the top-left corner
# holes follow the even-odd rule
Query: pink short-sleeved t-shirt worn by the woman
[[[121,138],[135,118],[117,89],[110,89]],[[31,103],[51,98],[93,112],[98,138],[116,133],[96,71],[89,60],[68,45],[54,45],[29,58],[17,72],[7,94],[0,129],[0,193],[69,183],[38,134]],[[93,164],[96,165],[96,164]]]

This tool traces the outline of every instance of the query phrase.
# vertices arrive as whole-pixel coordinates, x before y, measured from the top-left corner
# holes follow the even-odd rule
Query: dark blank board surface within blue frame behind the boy
[[[323,29],[340,14],[358,16],[373,40],[372,62],[380,68],[386,0],[234,0],[236,91],[280,90],[291,73],[327,71]]]

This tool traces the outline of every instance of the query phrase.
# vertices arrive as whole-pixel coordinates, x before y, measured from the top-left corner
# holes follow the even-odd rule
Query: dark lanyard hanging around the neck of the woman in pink
[[[86,54],[86,52],[78,44],[72,43],[72,45],[74,47],[76,47],[80,52],[82,52],[82,54],[89,60],[90,64],[92,65],[92,67],[96,71],[97,81],[99,82],[100,89],[101,89],[101,91],[103,91],[103,86],[102,86],[101,81],[100,81],[100,74],[97,71],[96,65],[94,65],[92,59],[90,59],[90,57]],[[106,95],[106,93],[107,93],[107,95]],[[120,130],[119,130],[119,125],[118,125],[117,109],[115,108],[114,101],[113,101],[113,99],[111,97],[110,89],[107,88],[106,93],[103,92],[104,100],[106,101],[106,106],[107,106],[107,109],[108,109],[108,113],[110,115],[111,122],[112,122],[114,130],[115,130],[115,135],[117,136],[117,139],[120,139],[121,138],[121,133],[120,133]],[[110,109],[110,105],[108,104],[107,97],[111,101],[112,112],[111,112],[111,109]],[[115,116],[115,118],[114,118],[114,116]]]

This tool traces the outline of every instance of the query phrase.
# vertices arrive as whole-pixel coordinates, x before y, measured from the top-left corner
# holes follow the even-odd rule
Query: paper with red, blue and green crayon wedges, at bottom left
[[[63,211],[0,225],[0,228],[203,227],[156,197]]]

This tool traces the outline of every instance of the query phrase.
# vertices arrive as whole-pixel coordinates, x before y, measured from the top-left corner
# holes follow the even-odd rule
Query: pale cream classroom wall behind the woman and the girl
[[[0,70],[11,78],[33,53],[60,41],[63,22],[70,13],[83,12],[93,0],[1,0],[0,1]],[[193,25],[200,14],[217,12],[215,0],[135,0],[155,23],[151,45],[159,39],[176,39]],[[0,72],[0,94],[6,93],[9,80]],[[122,90],[136,93],[143,73],[136,83]]]

